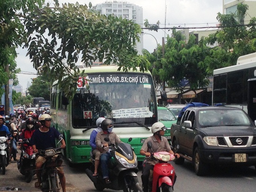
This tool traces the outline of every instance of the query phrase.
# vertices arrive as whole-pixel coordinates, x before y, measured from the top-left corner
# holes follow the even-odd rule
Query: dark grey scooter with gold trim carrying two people
[[[109,138],[104,138],[104,140],[109,142]],[[131,140],[132,138],[129,138],[128,142]],[[101,166],[98,168],[98,177],[93,177],[95,161],[92,153],[91,162],[93,165],[85,170],[85,173],[93,182],[96,190],[102,191],[108,188],[112,190],[123,190],[123,192],[143,192],[142,186],[137,178],[137,156],[130,144],[119,143],[118,146],[111,144],[109,148],[111,149],[110,154],[112,155],[108,162],[111,183],[105,183],[105,179],[102,177]]]

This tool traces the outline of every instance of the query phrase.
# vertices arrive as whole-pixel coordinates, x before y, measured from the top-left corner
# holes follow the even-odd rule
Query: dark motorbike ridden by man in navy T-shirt
[[[59,142],[63,139],[63,136],[59,136]],[[59,143],[58,142],[58,143]],[[59,192],[60,182],[57,173],[57,167],[63,166],[63,160],[61,159],[61,147],[47,148],[46,150],[38,150],[37,155],[41,155],[46,158],[46,162],[43,164],[41,170],[42,185],[40,187],[43,192]]]

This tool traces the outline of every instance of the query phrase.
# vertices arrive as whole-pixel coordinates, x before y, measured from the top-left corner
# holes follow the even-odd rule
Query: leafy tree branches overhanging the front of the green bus
[[[1,1],[1,27],[7,29],[0,31],[0,53],[6,47],[25,43],[34,68],[59,80],[59,87],[69,99],[79,78],[80,70],[75,66],[79,55],[86,66],[97,59],[117,64],[124,71],[136,67],[144,71],[150,66],[144,56],[137,55],[134,46],[141,29],[130,20],[101,15],[90,9],[91,4],[89,8],[78,3],[60,6],[54,0],[55,5],[50,7],[49,3],[44,5],[45,0]]]

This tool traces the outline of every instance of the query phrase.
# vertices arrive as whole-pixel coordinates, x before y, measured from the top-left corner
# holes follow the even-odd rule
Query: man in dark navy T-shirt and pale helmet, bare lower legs
[[[55,147],[55,138],[59,138],[61,135],[55,128],[51,127],[51,116],[49,114],[43,114],[40,118],[40,123],[42,127],[35,130],[33,133],[30,144],[32,145],[34,153],[38,152],[38,149],[45,150],[49,147]],[[65,148],[66,144],[64,139],[61,140],[61,148]],[[36,174],[37,174],[37,182],[35,183],[35,187],[38,188],[41,186],[41,167],[46,162],[46,158],[43,156],[37,156],[36,159]],[[60,178],[60,183],[62,186],[62,191],[66,192],[66,179],[64,176],[63,167],[57,167],[58,175]]]

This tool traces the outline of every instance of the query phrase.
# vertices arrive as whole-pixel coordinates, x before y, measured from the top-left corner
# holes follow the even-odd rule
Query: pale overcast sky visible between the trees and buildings
[[[143,8],[143,20],[147,19],[150,24],[156,24],[160,21],[160,27],[215,27],[218,24],[217,14],[223,13],[223,0],[126,0],[128,3],[133,3]],[[53,0],[46,0],[46,3],[52,3]],[[89,5],[100,4],[105,0],[59,0],[59,3],[76,3]],[[190,29],[193,30],[212,30],[214,28]],[[162,44],[162,37],[171,35],[171,30],[160,29],[158,32],[145,30],[143,36],[143,47],[149,52],[154,52],[156,41]],[[152,37],[154,36],[154,37]],[[33,64],[27,54],[26,49],[18,48],[18,56],[16,58],[17,67],[22,73],[18,74],[19,84],[25,92],[27,82],[31,82],[31,78],[37,75],[24,74],[27,72],[36,73]]]

